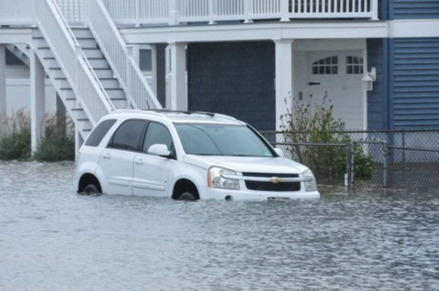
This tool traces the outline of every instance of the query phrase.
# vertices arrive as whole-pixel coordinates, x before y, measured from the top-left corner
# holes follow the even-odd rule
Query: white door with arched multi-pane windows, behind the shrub
[[[341,118],[346,129],[365,129],[362,51],[310,52],[307,63],[306,101],[311,108],[326,96],[326,105],[334,106],[335,118]]]

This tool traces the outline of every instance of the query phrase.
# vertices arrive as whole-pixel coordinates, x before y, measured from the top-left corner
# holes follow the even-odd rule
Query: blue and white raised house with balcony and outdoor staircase
[[[0,25],[0,108],[29,104],[34,149],[57,98],[78,144],[127,107],[275,130],[289,97],[350,129],[439,126],[437,0],[0,0]]]

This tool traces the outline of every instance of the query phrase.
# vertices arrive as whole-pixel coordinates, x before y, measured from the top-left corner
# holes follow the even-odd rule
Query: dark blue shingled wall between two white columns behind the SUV
[[[188,45],[189,110],[232,115],[259,130],[274,130],[273,42]]]

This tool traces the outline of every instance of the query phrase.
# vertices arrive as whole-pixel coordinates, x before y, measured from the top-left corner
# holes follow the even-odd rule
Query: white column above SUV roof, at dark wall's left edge
[[[186,94],[186,44],[170,43],[171,90],[166,107],[171,110],[187,110]]]

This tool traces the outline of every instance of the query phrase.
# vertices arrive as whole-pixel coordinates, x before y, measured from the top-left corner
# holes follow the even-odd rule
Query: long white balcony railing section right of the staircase
[[[103,0],[118,25],[378,19],[378,0]]]

